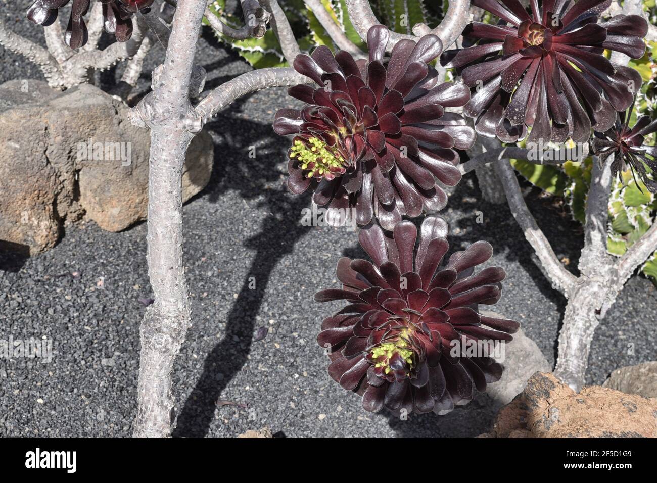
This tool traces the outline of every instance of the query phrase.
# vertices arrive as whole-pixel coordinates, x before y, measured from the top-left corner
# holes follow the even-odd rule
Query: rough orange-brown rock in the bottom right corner
[[[537,372],[503,407],[494,438],[655,438],[657,399],[600,386],[576,393],[552,374]]]

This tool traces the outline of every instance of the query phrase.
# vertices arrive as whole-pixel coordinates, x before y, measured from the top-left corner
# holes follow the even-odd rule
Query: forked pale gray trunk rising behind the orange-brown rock
[[[559,334],[555,375],[575,390],[584,384],[589,348],[600,319],[614,304],[632,273],[657,250],[657,221],[617,263],[606,252],[608,198],[611,174],[609,163],[599,166],[593,159],[591,188],[585,210],[585,244],[579,260],[581,275],[575,277],[556,258],[547,238],[527,208],[516,174],[507,158],[525,158],[528,150],[498,147],[476,156],[461,166],[461,172],[494,162],[511,212],[539,258],[541,271],[558,288],[568,304]]]

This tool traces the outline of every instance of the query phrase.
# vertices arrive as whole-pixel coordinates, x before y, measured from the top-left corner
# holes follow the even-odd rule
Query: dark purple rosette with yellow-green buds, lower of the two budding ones
[[[315,294],[317,302],[348,305],[322,323],[319,345],[330,347],[328,374],[344,389],[363,396],[363,407],[378,412],[445,414],[472,400],[474,390],[499,380],[503,367],[491,353],[453,353],[453,342],[509,342],[520,325],[478,313],[478,304],[501,296],[501,267],[474,267],[493,253],[484,241],[447,253],[447,223],[438,216],[417,229],[397,223],[392,234],[377,225],[359,232],[373,263],[341,258],[342,288]],[[467,344],[467,343],[466,343]],[[463,347],[463,345],[462,345]]]

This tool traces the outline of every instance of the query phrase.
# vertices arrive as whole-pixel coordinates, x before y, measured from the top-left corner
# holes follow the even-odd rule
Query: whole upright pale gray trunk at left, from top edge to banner
[[[182,173],[196,126],[188,91],[205,7],[206,0],[178,4],[164,68],[138,109],[151,129],[148,276],[155,302],[140,330],[136,437],[166,438],[175,421],[171,373],[191,321],[183,272]]]

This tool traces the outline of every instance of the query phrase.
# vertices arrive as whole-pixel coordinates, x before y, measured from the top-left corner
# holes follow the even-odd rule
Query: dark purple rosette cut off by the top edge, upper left
[[[28,9],[28,18],[37,25],[50,26],[57,20],[58,9],[70,0],[35,0]],[[125,42],[132,35],[131,16],[150,7],[153,0],[97,0],[102,3],[102,22],[105,32]],[[91,0],[72,0],[71,14],[66,26],[66,45],[79,49],[87,43],[89,35],[83,16],[89,11]]]

